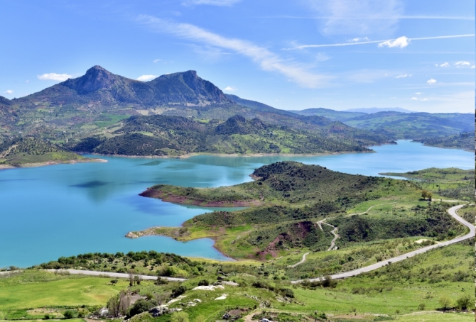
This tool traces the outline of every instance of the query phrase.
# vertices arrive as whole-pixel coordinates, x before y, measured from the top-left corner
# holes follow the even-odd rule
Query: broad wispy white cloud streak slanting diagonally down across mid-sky
[[[192,40],[195,43],[230,50],[239,55],[249,57],[253,62],[256,62],[262,70],[283,74],[302,87],[318,88],[327,86],[328,80],[332,78],[309,72],[308,67],[306,68],[290,60],[284,60],[276,55],[276,53],[271,52],[267,48],[255,45],[248,40],[226,38],[189,23],[175,23],[153,16],[141,15],[137,20],[139,23],[151,28],[151,30],[157,33],[169,33],[179,38]]]

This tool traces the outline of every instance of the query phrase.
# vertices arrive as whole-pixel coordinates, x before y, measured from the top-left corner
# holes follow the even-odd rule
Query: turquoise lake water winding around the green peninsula
[[[281,160],[318,164],[331,170],[377,175],[427,167],[474,167],[474,154],[399,141],[377,153],[321,157],[217,157],[142,159],[102,157],[107,163],[54,165],[0,171],[0,267],[30,265],[83,252],[157,250],[227,260],[204,238],[182,243],[128,231],[178,226],[205,211],[138,196],[153,184],[220,187],[250,181],[256,167]]]

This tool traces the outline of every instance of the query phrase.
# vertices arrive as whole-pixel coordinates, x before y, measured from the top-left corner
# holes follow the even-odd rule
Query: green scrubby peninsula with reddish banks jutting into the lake
[[[234,258],[270,260],[293,250],[327,250],[332,227],[339,231],[338,248],[412,236],[444,240],[464,231],[446,213],[447,204],[427,204],[421,199],[421,187],[413,182],[345,174],[299,162],[265,165],[251,176],[254,182],[232,187],[150,187],[141,196],[179,204],[249,208],[204,213],[185,221],[182,228],[150,228],[131,232],[129,237],[158,234],[190,240],[208,236]]]

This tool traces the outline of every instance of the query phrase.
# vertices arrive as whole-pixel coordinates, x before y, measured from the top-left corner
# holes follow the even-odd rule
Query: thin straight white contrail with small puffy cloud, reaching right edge
[[[474,37],[474,33],[464,34],[464,35],[437,35],[433,37],[421,37],[421,38],[407,38],[402,36],[394,39],[386,40],[369,40],[369,41],[357,41],[350,43],[330,43],[330,44],[312,44],[312,45],[298,45],[292,48],[284,48],[284,50],[297,50],[297,49],[306,49],[306,48],[323,48],[323,47],[342,47],[342,46],[355,46],[355,45],[367,45],[370,43],[377,43],[379,47],[387,48],[405,48],[408,46],[411,41],[414,40],[434,40],[434,39],[447,39],[447,38],[462,38],[462,37]]]

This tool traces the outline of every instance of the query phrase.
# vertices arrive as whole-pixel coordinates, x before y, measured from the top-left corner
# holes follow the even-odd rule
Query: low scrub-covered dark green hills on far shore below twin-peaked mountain
[[[70,140],[67,148],[104,155],[186,155],[189,153],[367,152],[351,135],[330,135],[270,126],[258,118],[233,116],[225,122],[199,122],[180,116],[133,116],[109,137]]]

